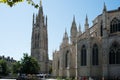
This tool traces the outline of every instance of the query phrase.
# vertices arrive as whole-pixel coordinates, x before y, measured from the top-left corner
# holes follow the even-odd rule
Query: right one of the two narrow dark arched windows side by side
[[[93,45],[92,48],[92,65],[98,65],[99,61],[98,61],[98,46],[97,44]]]

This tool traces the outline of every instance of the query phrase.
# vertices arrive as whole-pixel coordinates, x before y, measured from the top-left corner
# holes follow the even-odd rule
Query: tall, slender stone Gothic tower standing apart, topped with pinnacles
[[[33,14],[33,28],[31,38],[31,56],[37,59],[40,64],[40,73],[48,73],[48,33],[47,16],[43,14],[43,7],[40,3],[38,15]]]

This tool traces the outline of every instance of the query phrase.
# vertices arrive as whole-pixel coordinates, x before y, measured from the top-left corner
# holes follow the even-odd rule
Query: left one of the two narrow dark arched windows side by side
[[[81,66],[86,66],[86,61],[87,61],[87,55],[86,55],[86,47],[85,45],[82,46],[81,48]]]

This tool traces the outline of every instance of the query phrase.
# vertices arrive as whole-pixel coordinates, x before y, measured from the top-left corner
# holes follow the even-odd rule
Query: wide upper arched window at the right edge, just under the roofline
[[[110,33],[119,32],[120,31],[120,20],[114,18],[110,23]]]

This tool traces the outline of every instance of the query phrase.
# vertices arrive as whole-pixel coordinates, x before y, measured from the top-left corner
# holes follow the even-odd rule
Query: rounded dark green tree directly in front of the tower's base
[[[40,67],[36,59],[28,54],[24,54],[23,59],[21,60],[21,69],[20,73],[25,74],[37,74],[39,73]]]

